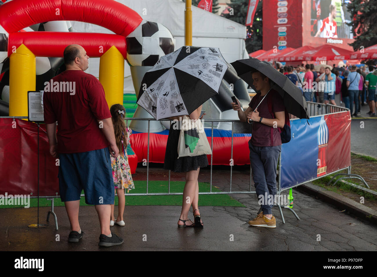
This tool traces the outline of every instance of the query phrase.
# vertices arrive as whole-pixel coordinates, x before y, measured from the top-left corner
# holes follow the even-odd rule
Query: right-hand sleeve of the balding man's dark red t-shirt
[[[89,106],[96,119],[111,118],[109,106],[107,106],[105,91],[100,83],[87,89]]]

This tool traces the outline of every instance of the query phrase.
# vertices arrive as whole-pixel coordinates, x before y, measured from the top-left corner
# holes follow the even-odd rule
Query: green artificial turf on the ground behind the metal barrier
[[[135,189],[130,190],[129,195],[126,195],[127,206],[137,205],[182,205],[182,195],[151,195],[151,196],[132,196],[133,193],[146,193],[147,181],[134,181]],[[171,193],[182,193],[185,182],[172,181],[170,182]],[[207,192],[210,190],[209,183],[199,182],[199,192]],[[212,191],[221,191],[212,186]],[[148,193],[167,193],[167,181],[149,181]],[[64,206],[60,198],[54,200],[55,206]],[[118,205],[118,197],[115,197],[115,205]],[[39,199],[39,207],[51,206],[51,201],[46,198]],[[81,197],[80,206],[88,206],[85,203],[85,197]],[[199,206],[231,206],[231,207],[245,207],[243,204],[233,199],[227,194],[199,194]],[[0,208],[20,208],[23,205],[0,205]],[[37,207],[37,199],[30,199],[30,207]]]

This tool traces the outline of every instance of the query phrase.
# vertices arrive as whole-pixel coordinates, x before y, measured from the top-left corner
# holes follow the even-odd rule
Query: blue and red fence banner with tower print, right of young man
[[[281,187],[289,188],[351,165],[351,116],[335,113],[291,121],[282,145]]]

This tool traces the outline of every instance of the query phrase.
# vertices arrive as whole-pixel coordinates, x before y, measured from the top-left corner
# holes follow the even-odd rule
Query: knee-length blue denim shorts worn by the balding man
[[[80,200],[88,205],[114,204],[114,182],[109,148],[82,153],[59,153],[62,202]]]

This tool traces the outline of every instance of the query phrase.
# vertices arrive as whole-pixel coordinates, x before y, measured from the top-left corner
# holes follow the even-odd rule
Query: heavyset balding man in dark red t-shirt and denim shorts
[[[71,230],[68,242],[78,242],[84,234],[78,222],[84,190],[85,202],[95,205],[100,219],[99,245],[119,245],[123,239],[110,232],[110,204],[114,203],[110,155],[116,158],[119,150],[103,87],[84,72],[88,59],[80,45],[64,49],[66,71],[44,83],[44,122],[50,154],[60,162],[60,197]]]

